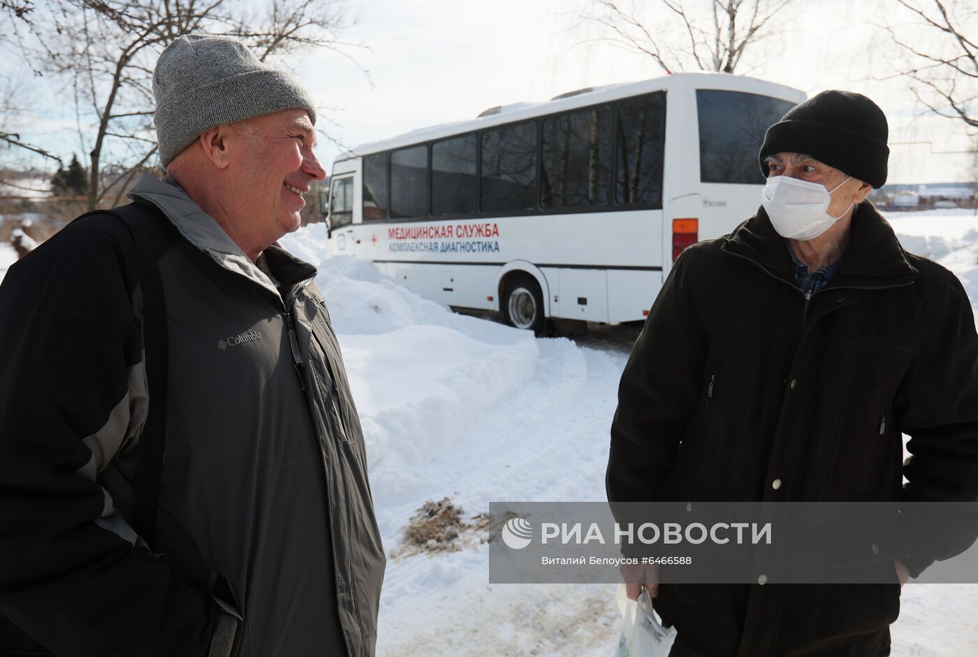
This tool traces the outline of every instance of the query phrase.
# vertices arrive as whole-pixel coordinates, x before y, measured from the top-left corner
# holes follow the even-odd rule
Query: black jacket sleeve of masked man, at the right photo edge
[[[898,427],[911,437],[900,522],[914,578],[978,537],[978,335],[960,281],[942,273],[896,406]]]

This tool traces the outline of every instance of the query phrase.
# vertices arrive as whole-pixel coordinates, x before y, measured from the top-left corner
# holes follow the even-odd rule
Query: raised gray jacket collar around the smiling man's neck
[[[144,173],[126,195],[133,201],[156,206],[184,239],[225,269],[241,274],[276,296],[281,296],[265,272],[244,255],[241,247],[224,232],[220,224],[200,210],[200,206],[179,186]],[[283,287],[316,275],[316,267],[295,258],[278,243],[269,246],[263,255]]]

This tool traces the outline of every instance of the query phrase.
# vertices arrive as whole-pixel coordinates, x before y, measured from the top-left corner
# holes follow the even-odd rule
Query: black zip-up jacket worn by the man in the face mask
[[[690,247],[622,376],[606,484],[612,508],[975,500],[978,336],[964,290],[905,252],[868,202],[827,287],[810,295],[763,209]],[[927,537],[900,529],[902,544],[876,558],[889,568],[900,557],[914,576],[978,535],[973,522]],[[899,596],[894,573],[890,584],[665,584],[655,606],[710,657],[876,657],[889,654]]]

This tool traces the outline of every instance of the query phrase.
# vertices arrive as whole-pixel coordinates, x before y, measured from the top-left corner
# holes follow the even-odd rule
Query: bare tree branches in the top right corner
[[[973,4],[946,0],[897,1],[914,23],[886,29],[911,59],[901,74],[913,81],[917,100],[937,115],[978,128],[978,11]],[[908,27],[916,32],[912,44],[904,35]]]

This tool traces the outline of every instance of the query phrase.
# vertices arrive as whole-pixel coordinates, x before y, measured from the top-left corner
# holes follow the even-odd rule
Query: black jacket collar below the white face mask
[[[907,259],[893,228],[871,203],[864,201],[857,206],[849,230],[849,244],[826,288],[888,288],[913,282],[918,271]],[[748,258],[796,285],[791,258],[784,253],[784,238],[771,225],[764,208],[721,239],[722,251]]]

